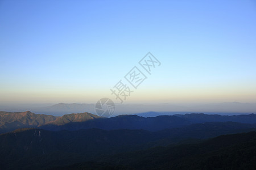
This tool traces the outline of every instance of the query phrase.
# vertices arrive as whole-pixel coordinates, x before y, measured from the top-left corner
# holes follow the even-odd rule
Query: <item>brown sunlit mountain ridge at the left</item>
[[[100,118],[90,113],[66,114],[55,117],[46,114],[35,114],[26,112],[0,112],[0,133],[12,131],[19,128],[36,128],[42,125],[64,125],[70,122],[81,122]]]

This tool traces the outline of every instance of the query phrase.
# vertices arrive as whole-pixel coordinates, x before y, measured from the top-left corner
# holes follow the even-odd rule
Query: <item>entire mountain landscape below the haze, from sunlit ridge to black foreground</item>
[[[0,112],[0,130],[0,169],[253,169],[255,165],[256,114],[106,118],[91,113],[56,117]]]

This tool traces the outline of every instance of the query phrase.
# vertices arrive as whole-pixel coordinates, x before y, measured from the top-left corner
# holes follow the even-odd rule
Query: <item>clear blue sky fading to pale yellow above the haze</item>
[[[255,103],[256,1],[0,1],[2,104],[114,98],[148,52],[126,103]]]

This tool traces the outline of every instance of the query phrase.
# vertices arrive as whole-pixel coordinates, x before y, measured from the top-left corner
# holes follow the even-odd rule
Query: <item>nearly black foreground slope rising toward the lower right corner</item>
[[[55,169],[82,169],[96,165],[98,169],[117,166],[122,169],[255,169],[256,132],[222,135],[199,144],[155,147],[106,156],[94,164],[78,163]]]

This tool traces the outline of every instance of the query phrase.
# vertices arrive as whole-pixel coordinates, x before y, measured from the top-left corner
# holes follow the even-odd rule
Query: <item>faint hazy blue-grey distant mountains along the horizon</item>
[[[95,101],[96,103],[96,101]],[[59,104],[0,104],[0,111],[31,111],[37,114],[63,114],[89,112],[96,114],[95,103],[59,103]],[[207,114],[250,114],[255,113],[256,103],[210,103],[210,104],[115,104],[113,116],[120,114],[140,114],[143,117],[155,117],[159,115],[172,115],[176,113],[207,113]]]

